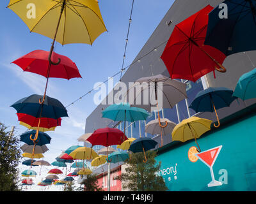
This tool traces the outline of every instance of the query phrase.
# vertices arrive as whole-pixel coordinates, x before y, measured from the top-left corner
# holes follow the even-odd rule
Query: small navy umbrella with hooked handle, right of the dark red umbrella
[[[147,150],[154,149],[156,145],[157,142],[155,140],[152,140],[151,138],[138,138],[131,143],[129,151],[134,153],[144,152],[145,160],[143,160],[143,162],[147,163],[147,157],[145,152],[147,152]]]

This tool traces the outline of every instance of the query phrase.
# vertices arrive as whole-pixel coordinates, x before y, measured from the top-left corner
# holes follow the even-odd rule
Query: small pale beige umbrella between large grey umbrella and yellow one
[[[173,128],[176,126],[174,122],[168,119],[160,119],[161,124],[167,121],[167,126],[165,128],[162,128],[159,126],[159,121],[158,119],[156,120],[151,120],[146,124],[145,126],[145,132],[149,133],[151,135],[158,135],[161,134],[161,147],[163,147],[163,135],[168,135],[172,133]]]

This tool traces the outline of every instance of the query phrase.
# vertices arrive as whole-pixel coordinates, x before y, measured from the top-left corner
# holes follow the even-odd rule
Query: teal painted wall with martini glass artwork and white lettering
[[[223,146],[213,171],[215,179],[226,184],[207,187],[212,180],[210,169],[199,159],[189,160],[188,150],[196,146],[191,140],[156,157],[170,191],[256,191],[256,116],[213,131],[198,144],[202,151]]]

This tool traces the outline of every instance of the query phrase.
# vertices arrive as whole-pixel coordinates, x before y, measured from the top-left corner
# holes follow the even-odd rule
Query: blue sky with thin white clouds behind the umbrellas
[[[8,0],[0,1],[2,27],[0,32],[0,122],[10,128],[15,126],[16,135],[20,135],[26,131],[26,128],[19,125],[16,110],[10,105],[31,94],[44,94],[46,79],[34,73],[23,72],[19,66],[10,63],[33,50],[49,51],[52,40],[40,34],[30,33],[26,24],[13,11],[6,8],[8,3]],[[124,67],[131,64],[172,3],[173,0],[134,1]],[[108,32],[101,34],[92,46],[86,44],[62,46],[57,43],[55,52],[72,59],[83,78],[73,78],[69,81],[50,78],[47,96],[56,98],[67,106],[93,89],[96,82],[103,82],[120,71],[131,5],[132,0],[99,1]],[[119,77],[120,75],[115,78],[115,82]],[[47,132],[52,140],[51,144],[47,145],[49,151],[44,154],[46,161],[52,163],[55,157],[61,154],[61,150],[77,145],[76,139],[84,133],[86,117],[96,106],[93,103],[92,93],[67,108],[69,117],[63,118],[61,127],[56,128],[56,131]],[[20,170],[25,169],[26,166],[20,165]],[[47,169],[44,172],[47,173]],[[44,174],[40,179],[42,177],[44,179]],[[35,190],[36,187],[33,189]]]

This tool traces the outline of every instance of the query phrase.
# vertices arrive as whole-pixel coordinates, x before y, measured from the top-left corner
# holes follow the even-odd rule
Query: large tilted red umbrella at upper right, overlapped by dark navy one
[[[208,5],[175,25],[161,55],[171,78],[196,82],[214,69],[221,72],[226,71],[221,65],[226,55],[214,47],[204,45],[208,13],[212,9],[213,7]]]

